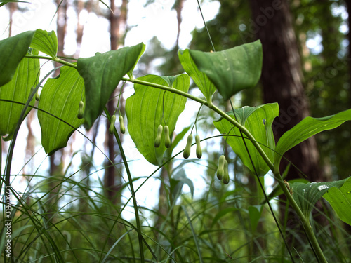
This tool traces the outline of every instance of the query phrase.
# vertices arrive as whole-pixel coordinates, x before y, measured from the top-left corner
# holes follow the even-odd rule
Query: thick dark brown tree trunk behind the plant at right
[[[251,0],[251,11],[253,20],[249,26],[250,33],[256,34],[263,45],[261,81],[264,102],[279,104],[279,117],[274,120],[272,126],[277,141],[287,130],[310,115],[303,87],[298,43],[288,1]],[[286,180],[303,177],[303,175],[307,175],[307,180],[311,182],[324,180],[323,170],[319,167],[319,152],[314,137],[293,147],[284,154],[284,157],[289,161],[282,159],[281,173],[286,170],[289,162],[293,164],[290,166]],[[281,212],[284,212],[285,207],[285,202],[282,202]],[[299,226],[292,217],[293,214],[289,214],[289,222]],[[324,219],[318,221],[322,224],[326,222]]]

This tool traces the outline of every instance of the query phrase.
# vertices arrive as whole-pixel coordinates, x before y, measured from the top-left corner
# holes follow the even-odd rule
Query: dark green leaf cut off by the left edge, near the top
[[[27,31],[0,41],[0,86],[11,81],[32,42],[35,31]]]

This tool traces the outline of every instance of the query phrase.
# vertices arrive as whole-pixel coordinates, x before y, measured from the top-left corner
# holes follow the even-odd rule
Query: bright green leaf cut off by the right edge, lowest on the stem
[[[340,220],[351,225],[351,177],[347,178],[340,189],[329,188],[323,197],[330,203]]]

